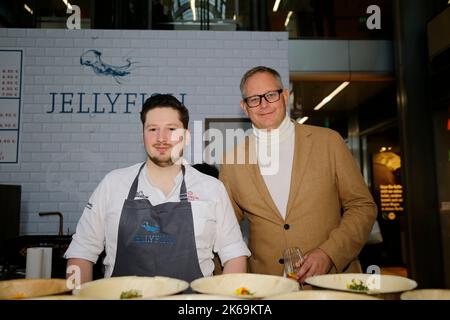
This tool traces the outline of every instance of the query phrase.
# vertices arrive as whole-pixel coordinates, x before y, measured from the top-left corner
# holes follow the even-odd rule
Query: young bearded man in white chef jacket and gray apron
[[[223,273],[246,272],[250,256],[225,187],[183,160],[187,108],[172,95],[142,107],[144,163],[113,170],[95,189],[65,253],[68,276],[91,281],[103,250],[105,277],[210,276],[213,252]]]

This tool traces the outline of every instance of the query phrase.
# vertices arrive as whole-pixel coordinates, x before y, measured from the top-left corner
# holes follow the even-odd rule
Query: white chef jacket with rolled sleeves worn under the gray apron
[[[140,163],[128,168],[111,171],[95,189],[76,233],[64,257],[81,258],[96,263],[105,248],[105,277],[110,277],[116,260],[117,235],[120,215],[131,184],[136,177]],[[213,253],[219,254],[222,263],[240,257],[250,256],[230,199],[221,181],[185,165],[185,183],[188,201],[192,206],[195,243],[200,269],[204,276],[214,271]],[[182,173],[175,178],[175,186],[166,197],[150,182],[147,170],[139,175],[135,199],[147,198],[152,205],[164,202],[179,202]]]

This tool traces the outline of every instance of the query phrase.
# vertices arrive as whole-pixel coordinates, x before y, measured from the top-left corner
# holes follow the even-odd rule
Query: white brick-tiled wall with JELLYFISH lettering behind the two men
[[[22,185],[21,234],[57,232],[56,217],[39,217],[41,211],[61,211],[65,232],[73,233],[102,177],[145,159],[141,94],[183,94],[193,129],[193,121],[205,117],[243,117],[239,81],[247,69],[271,66],[288,81],[286,33],[0,29],[1,49],[23,50],[18,163],[0,163],[0,183]],[[119,84],[80,64],[90,49],[100,51],[105,64],[137,63]],[[50,113],[51,93],[56,108]],[[79,93],[86,113],[80,113]],[[97,112],[93,93],[99,93]],[[112,99],[120,93],[116,113],[106,93]],[[194,151],[187,154],[195,163],[201,161],[202,133],[193,133]]]

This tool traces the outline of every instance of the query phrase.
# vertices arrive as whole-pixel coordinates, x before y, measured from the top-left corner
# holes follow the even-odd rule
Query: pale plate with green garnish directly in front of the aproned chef
[[[176,294],[186,290],[189,283],[167,277],[113,277],[87,282],[73,294],[91,299],[120,299],[123,292],[136,290],[141,298]]]

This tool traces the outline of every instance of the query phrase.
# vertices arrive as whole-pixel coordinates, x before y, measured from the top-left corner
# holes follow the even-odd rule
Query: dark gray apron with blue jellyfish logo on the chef
[[[166,276],[191,282],[203,277],[198,262],[191,204],[186,184],[180,202],[153,206],[148,199],[134,200],[139,174],[131,185],[120,216],[113,277]]]

